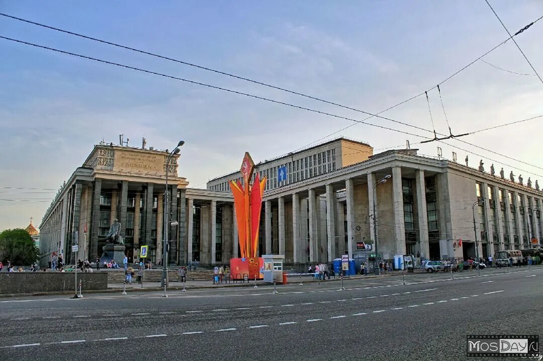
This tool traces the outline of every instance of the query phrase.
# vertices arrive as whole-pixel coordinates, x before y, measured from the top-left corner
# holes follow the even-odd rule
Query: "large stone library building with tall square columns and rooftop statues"
[[[137,259],[139,246],[148,244],[151,261],[161,261],[166,155],[97,145],[43,218],[43,259],[55,250],[68,252],[78,231],[84,245],[78,258],[94,260],[118,218],[129,257]],[[257,172],[268,179],[260,254],[285,255],[287,264],[329,262],[342,254],[368,262],[376,240],[384,259],[487,257],[497,250],[539,248],[543,241],[539,186],[416,149],[374,155],[366,143],[338,138],[260,162]],[[228,181],[239,173],[215,178],[206,189],[187,188],[176,168],[169,174],[175,175],[168,191],[178,226],[169,230],[168,262],[212,265],[237,257]]]

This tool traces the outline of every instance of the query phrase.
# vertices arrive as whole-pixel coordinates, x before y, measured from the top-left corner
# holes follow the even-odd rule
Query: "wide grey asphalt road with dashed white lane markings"
[[[0,357],[442,361],[466,334],[543,333],[543,269],[476,275],[3,299]]]

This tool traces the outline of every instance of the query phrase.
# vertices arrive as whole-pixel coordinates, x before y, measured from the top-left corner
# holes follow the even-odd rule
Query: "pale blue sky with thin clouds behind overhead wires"
[[[515,33],[543,15],[537,0],[490,2]],[[506,40],[483,0],[121,2],[0,0],[0,12],[280,86],[370,113],[424,92]],[[229,88],[334,115],[367,115],[202,69],[0,16],[0,36],[37,43]],[[543,77],[543,20],[515,40]],[[157,149],[179,140],[179,175],[190,187],[255,162],[340,135],[376,149],[405,148],[470,166],[483,160],[543,182],[543,118],[479,132],[462,140],[414,144],[423,137],[356,123],[184,81],[101,64],[0,39],[0,230],[39,225],[64,180],[94,144],[118,135]],[[483,58],[534,74],[512,41]],[[543,115],[543,84],[477,61],[441,84],[453,134]],[[433,124],[448,134],[437,89],[428,92]],[[382,116],[432,130],[426,97]],[[432,137],[381,118],[367,122]],[[334,135],[334,132],[337,132]],[[459,149],[461,148],[461,149]],[[509,159],[507,157],[512,159]],[[543,183],[542,183],[543,185]],[[36,188],[36,189],[14,189]],[[30,193],[35,192],[35,193]]]

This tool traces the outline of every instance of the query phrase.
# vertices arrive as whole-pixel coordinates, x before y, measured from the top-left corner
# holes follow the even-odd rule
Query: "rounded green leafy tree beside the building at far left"
[[[0,232],[0,261],[12,265],[28,265],[40,254],[30,234],[20,228]]]

